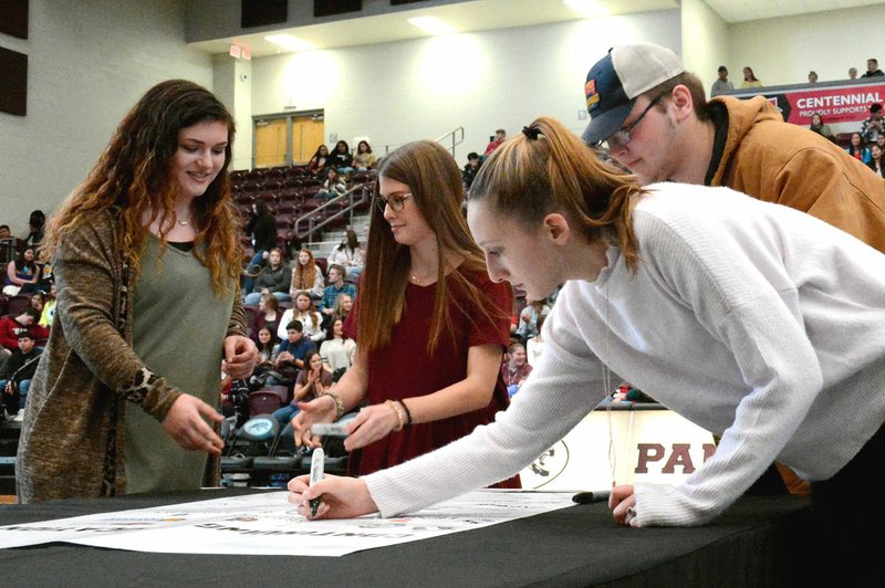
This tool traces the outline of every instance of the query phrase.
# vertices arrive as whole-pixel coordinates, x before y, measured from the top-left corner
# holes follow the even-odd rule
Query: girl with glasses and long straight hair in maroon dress
[[[344,440],[348,470],[361,474],[464,437],[509,403],[500,368],[513,294],[489,280],[470,239],[458,164],[438,143],[410,143],[384,158],[376,189],[360,297],[344,325],[353,365],[293,421],[295,443],[316,447],[314,422],[367,402]]]

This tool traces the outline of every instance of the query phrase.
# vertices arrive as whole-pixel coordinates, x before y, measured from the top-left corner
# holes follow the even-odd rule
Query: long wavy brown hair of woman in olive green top
[[[160,227],[166,227],[166,220],[175,218],[178,185],[170,161],[178,150],[178,132],[205,122],[223,123],[228,144],[218,176],[192,201],[199,228],[194,255],[210,270],[216,294],[231,287],[231,282],[237,284],[242,251],[228,179],[236,126],[233,117],[211,92],[186,80],[155,85],[126,114],[85,181],[50,219],[43,242],[46,259],[64,246],[72,230],[88,222],[96,212],[113,209],[122,229],[121,245],[137,275],[148,235],[148,227],[143,222],[145,211],[150,211],[148,225],[159,219]],[[169,230],[171,227],[159,234],[164,252]]]

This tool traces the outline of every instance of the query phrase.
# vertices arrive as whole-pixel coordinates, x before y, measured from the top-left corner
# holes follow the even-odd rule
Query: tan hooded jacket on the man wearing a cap
[[[783,122],[764,97],[719,96],[728,138],[712,186],[808,212],[885,251],[885,179],[833,143]]]

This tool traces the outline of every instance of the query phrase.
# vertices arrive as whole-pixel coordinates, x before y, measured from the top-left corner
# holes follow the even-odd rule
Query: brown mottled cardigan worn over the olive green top
[[[28,395],[15,464],[21,503],[124,493],[128,402],[163,420],[181,395],[133,351],[135,276],[119,231],[113,212],[96,213],[56,253],[56,312]],[[246,335],[239,302],[230,335]]]

